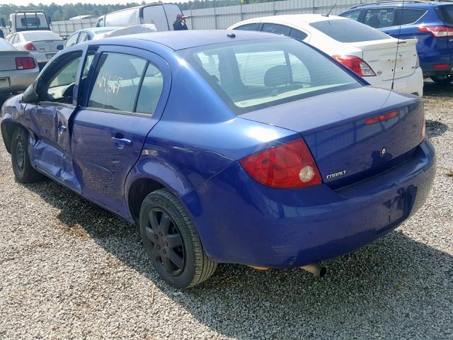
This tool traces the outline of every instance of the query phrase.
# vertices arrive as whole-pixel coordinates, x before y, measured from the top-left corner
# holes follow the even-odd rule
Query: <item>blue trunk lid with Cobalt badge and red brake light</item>
[[[389,119],[366,123],[369,118],[393,111],[397,113]],[[411,150],[420,144],[423,102],[415,96],[363,86],[240,117],[299,132],[313,154],[323,182],[341,187],[410,157]]]

